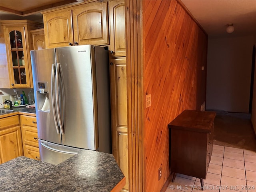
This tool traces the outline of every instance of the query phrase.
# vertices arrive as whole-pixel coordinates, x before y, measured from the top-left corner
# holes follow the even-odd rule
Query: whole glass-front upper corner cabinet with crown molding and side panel
[[[5,51],[1,48],[0,88],[32,88],[32,70],[30,50],[33,50],[30,30],[38,28],[40,23],[28,20],[1,20],[4,32]],[[2,32],[1,32],[2,34]],[[0,36],[2,39],[3,36]],[[2,46],[1,46],[2,47]],[[2,53],[6,53],[5,55]],[[2,63],[3,62],[3,63]],[[8,73],[8,75],[6,74]],[[3,81],[2,81],[3,80]]]

